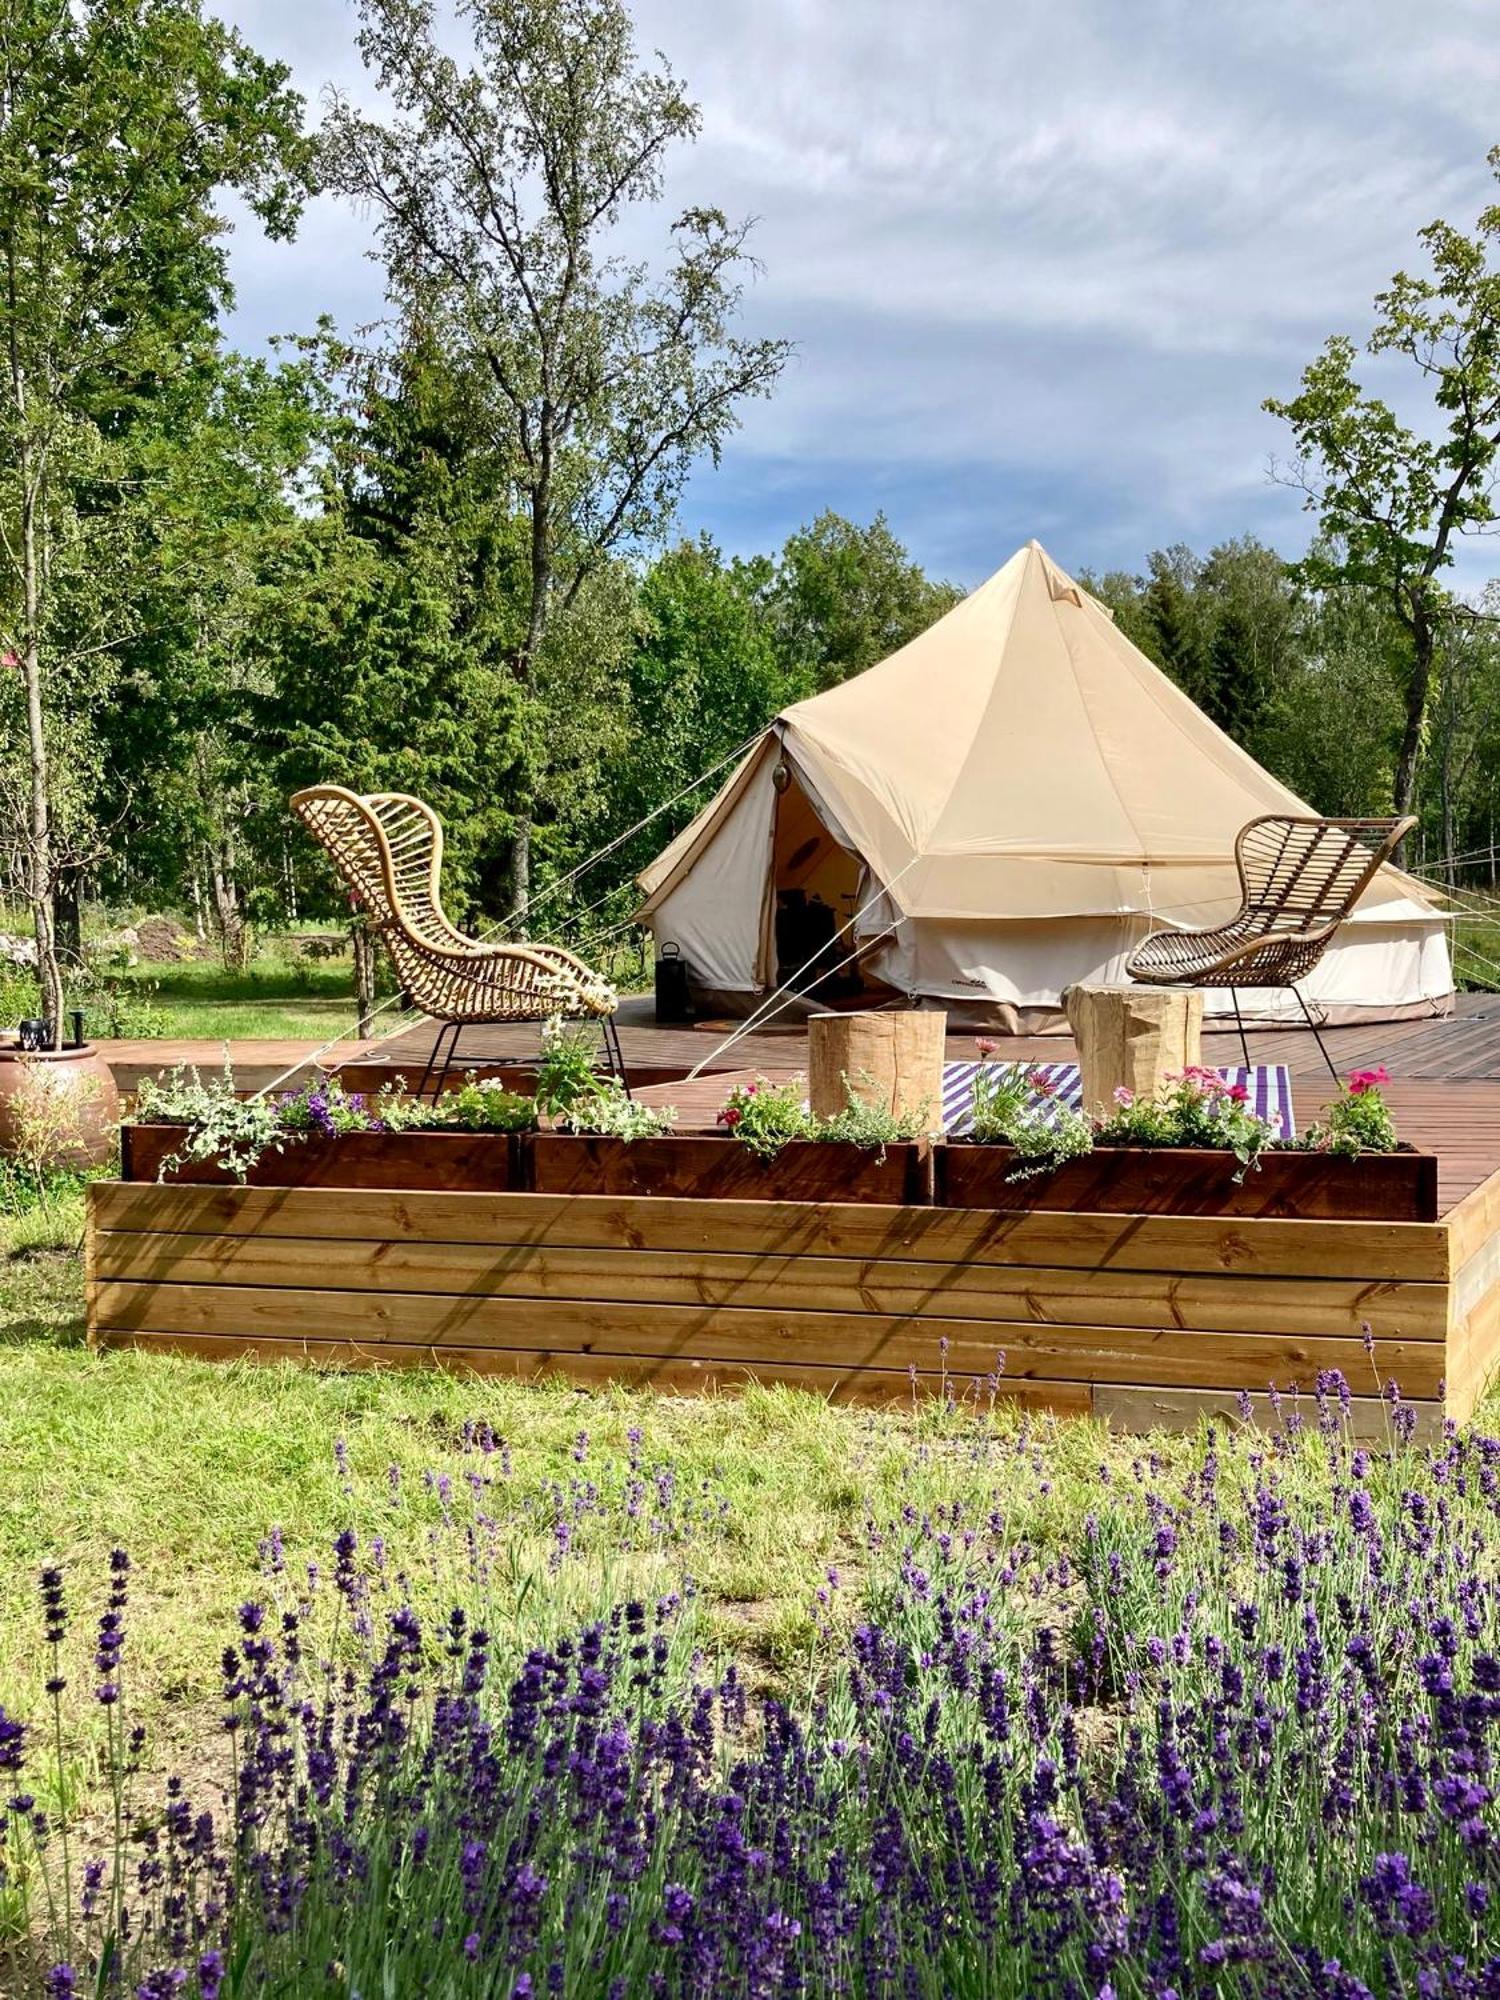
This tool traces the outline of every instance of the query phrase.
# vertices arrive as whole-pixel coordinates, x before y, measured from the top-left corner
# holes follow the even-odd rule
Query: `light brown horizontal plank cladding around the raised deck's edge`
[[[104,1182],[88,1310],[100,1346],[998,1394],[1128,1428],[1336,1368],[1380,1438],[1366,1320],[1428,1430],[1500,1350],[1500,1254],[1450,1262],[1446,1222]]]

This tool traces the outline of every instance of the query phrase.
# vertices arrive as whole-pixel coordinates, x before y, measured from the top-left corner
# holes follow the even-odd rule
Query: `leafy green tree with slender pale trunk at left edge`
[[[58,1034],[58,554],[90,514],[100,450],[212,338],[228,298],[216,198],[238,190],[286,234],[308,172],[286,72],[198,0],[0,10],[0,630],[20,672],[28,900]],[[72,654],[110,644],[98,632]]]

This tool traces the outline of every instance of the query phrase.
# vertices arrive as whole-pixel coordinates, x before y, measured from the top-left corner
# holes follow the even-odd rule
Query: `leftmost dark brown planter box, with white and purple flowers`
[[[162,1160],[182,1148],[186,1126],[120,1128],[120,1178],[156,1180]],[[346,1132],[304,1138],[266,1152],[246,1176],[250,1188],[452,1188],[510,1194],[524,1186],[524,1162],[512,1132]],[[168,1182],[234,1186],[210,1160],[186,1160]]]

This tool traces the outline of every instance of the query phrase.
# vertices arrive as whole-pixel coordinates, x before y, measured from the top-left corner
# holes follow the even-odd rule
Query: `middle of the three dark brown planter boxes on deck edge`
[[[792,1140],[774,1160],[728,1136],[588,1138],[532,1132],[522,1142],[536,1194],[662,1194],[720,1202],[930,1202],[932,1146],[870,1152]]]

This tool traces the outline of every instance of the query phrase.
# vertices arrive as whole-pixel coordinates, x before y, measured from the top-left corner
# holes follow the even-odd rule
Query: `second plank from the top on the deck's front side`
[[[910,1258],[766,1252],[574,1250],[384,1238],[190,1236],[96,1230],[96,1276],[322,1290],[486,1292],[662,1306],[786,1306],[804,1312],[944,1314],[1064,1326],[1444,1340],[1442,1284],[1352,1278],[1174,1276],[1170,1272],[936,1264]]]

